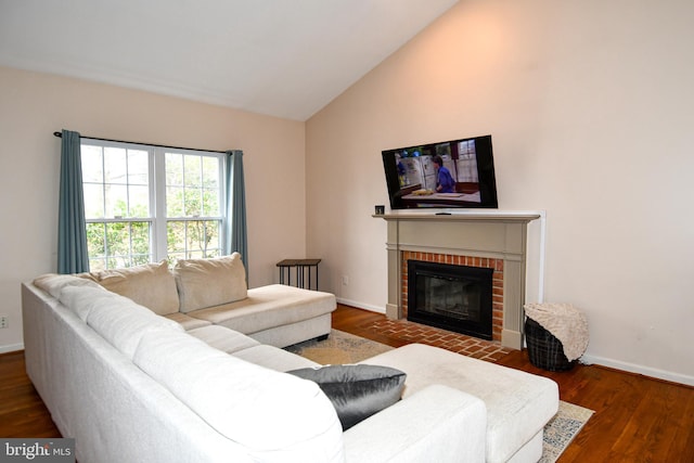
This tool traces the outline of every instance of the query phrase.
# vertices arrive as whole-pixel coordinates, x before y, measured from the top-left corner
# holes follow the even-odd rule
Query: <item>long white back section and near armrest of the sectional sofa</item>
[[[187,332],[90,280],[37,283],[49,292],[22,286],[27,373],[80,463],[485,459],[485,404],[461,390],[432,385],[343,432],[318,385],[284,373],[307,359],[221,325]]]

